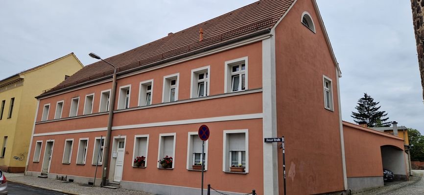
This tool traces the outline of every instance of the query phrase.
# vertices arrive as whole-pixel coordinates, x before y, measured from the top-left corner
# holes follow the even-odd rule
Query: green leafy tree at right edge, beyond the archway
[[[411,161],[424,161],[424,136],[416,129],[408,128]]]

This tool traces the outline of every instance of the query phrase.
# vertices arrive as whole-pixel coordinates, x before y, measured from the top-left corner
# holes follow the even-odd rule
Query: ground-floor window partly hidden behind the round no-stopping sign
[[[191,169],[191,165],[202,162],[205,158],[205,170],[208,166],[208,141],[205,141],[205,153],[202,154],[203,141],[199,138],[197,132],[188,132],[188,148],[187,148],[187,169]]]

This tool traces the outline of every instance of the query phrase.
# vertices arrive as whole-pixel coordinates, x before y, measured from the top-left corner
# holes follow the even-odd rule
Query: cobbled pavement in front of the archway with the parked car
[[[424,181],[423,180],[423,172],[417,171],[417,170],[412,170],[412,174],[414,176],[410,176],[409,181],[405,181],[405,182],[401,182],[401,183],[393,184],[393,185],[389,185],[389,186],[384,186],[384,187],[381,187],[381,188],[357,193],[357,194],[354,194],[354,195],[398,195],[398,194],[393,194],[393,193],[395,191],[396,192],[401,191],[404,187],[406,187],[408,185],[415,184],[417,182],[421,183],[421,182]],[[411,194],[405,194],[405,195],[411,195]]]

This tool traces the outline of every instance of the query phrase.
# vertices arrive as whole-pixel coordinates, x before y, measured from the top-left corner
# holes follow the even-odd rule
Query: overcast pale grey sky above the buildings
[[[74,52],[84,65],[256,0],[2,0],[0,79]],[[409,0],[317,0],[337,61],[344,120],[363,93],[389,120],[424,133]],[[225,5],[225,6],[223,6]]]

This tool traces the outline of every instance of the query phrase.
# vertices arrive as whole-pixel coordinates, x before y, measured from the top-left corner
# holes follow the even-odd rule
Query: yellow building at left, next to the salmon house
[[[0,80],[0,169],[25,171],[37,100],[84,66],[71,53]]]

